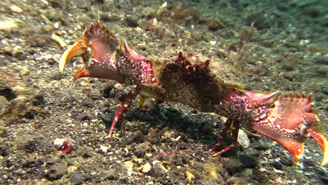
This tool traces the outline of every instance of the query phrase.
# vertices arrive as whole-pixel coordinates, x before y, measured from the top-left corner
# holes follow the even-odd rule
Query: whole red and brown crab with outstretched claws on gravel
[[[310,137],[323,151],[321,165],[328,161],[327,140],[317,130],[319,119],[313,114],[311,95],[287,93],[253,93],[242,89],[239,83],[223,81],[210,70],[210,60],[192,62],[179,52],[176,57],[144,57],[132,50],[125,39],[116,36],[100,22],[91,24],[83,36],[64,52],[60,71],[74,57],[82,57],[81,64],[74,63],[75,81],[82,77],[106,78],[118,83],[135,85],[121,103],[114,116],[107,138],[132,102],[139,95],[139,105],[145,98],[179,102],[202,112],[214,112],[227,119],[214,151],[229,133],[230,146],[214,153],[217,156],[237,144],[240,125],[273,139],[283,146],[299,163],[303,143]]]

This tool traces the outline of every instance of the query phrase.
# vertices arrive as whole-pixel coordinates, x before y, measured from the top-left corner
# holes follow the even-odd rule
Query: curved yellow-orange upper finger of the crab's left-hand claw
[[[88,46],[83,40],[77,41],[74,45],[70,46],[60,58],[60,71],[64,72],[64,67],[74,57],[83,56],[87,52]]]

